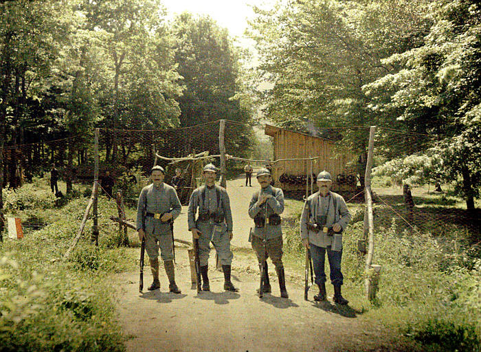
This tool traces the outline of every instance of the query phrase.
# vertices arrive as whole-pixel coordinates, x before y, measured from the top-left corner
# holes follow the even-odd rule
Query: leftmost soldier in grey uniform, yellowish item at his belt
[[[145,186],[140,192],[137,205],[137,231],[139,239],[145,236],[145,248],[150,261],[150,270],[154,278],[150,291],[160,288],[159,282],[159,248],[164,261],[164,268],[169,280],[169,290],[180,294],[175,284],[174,243],[170,222],[174,221],[181,212],[181,203],[177,192],[172,186],[164,184],[164,168],[154,166],[150,170],[153,183]]]

